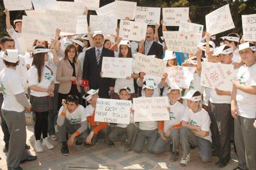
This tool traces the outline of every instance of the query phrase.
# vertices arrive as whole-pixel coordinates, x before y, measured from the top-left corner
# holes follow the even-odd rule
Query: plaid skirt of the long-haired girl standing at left
[[[31,111],[46,112],[52,110],[51,97],[34,97],[30,96]]]

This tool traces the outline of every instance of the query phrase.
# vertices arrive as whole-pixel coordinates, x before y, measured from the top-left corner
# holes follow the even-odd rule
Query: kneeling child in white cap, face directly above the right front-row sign
[[[156,88],[157,86],[153,80],[146,80],[143,82],[142,89],[146,98],[152,97],[154,94],[154,89]],[[147,140],[147,150],[148,152],[152,153],[157,138],[157,121],[141,121],[132,149],[140,153],[143,150],[145,141]]]

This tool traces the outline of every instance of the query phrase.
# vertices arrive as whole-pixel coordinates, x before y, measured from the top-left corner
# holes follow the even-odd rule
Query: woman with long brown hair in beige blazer
[[[77,95],[81,98],[79,80],[82,79],[82,70],[77,59],[77,50],[74,45],[68,45],[65,49],[65,57],[57,67],[56,81],[60,82],[58,90],[58,109],[61,107],[61,100],[68,95]]]

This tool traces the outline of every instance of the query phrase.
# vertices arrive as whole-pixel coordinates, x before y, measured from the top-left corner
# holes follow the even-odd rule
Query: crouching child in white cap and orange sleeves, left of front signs
[[[86,118],[90,125],[90,133],[88,133],[89,135],[86,137],[86,144],[84,145],[86,148],[95,145],[98,138],[104,138],[105,143],[108,144],[109,147],[113,146],[113,143],[108,140],[110,130],[108,123],[96,122],[94,120],[97,98],[99,97],[98,93],[99,89],[90,89],[90,91],[83,96],[83,98],[90,104],[85,108]]]

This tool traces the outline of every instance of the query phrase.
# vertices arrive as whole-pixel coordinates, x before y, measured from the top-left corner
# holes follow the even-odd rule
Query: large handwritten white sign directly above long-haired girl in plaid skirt
[[[22,37],[31,40],[49,41],[55,37],[57,24],[54,20],[22,17]]]

